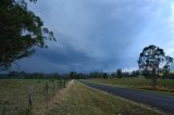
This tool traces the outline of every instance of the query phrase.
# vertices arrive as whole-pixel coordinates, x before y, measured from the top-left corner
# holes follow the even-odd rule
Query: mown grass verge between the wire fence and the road
[[[78,81],[71,81],[54,100],[49,115],[158,115],[144,105],[88,88]]]

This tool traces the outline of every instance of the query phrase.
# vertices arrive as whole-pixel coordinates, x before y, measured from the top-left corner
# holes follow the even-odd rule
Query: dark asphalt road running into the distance
[[[151,107],[156,107],[169,115],[174,115],[174,97],[172,95],[164,95],[153,92],[145,92],[120,87],[104,86],[99,84],[91,84],[85,80],[80,81],[91,88],[96,88],[98,90],[105,91],[113,95],[119,95],[138,103],[149,105]]]

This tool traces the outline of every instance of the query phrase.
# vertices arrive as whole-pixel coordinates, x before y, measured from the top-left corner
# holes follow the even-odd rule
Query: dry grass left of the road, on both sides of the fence
[[[50,88],[52,82],[48,81]],[[78,81],[70,81],[66,88],[49,91],[46,108],[42,95],[45,80],[0,80],[0,112],[7,115],[28,115],[26,88],[34,86],[33,115],[157,115],[145,106],[94,90]],[[5,110],[4,110],[5,103]]]

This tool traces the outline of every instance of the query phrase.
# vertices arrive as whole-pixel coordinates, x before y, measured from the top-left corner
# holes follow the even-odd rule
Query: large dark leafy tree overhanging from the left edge
[[[32,55],[36,47],[47,48],[46,39],[55,40],[24,0],[0,0],[0,69]]]

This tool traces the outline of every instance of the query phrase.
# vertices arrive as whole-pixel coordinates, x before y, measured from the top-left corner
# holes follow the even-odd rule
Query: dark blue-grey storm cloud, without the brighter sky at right
[[[54,31],[58,41],[49,42],[47,50],[38,50],[33,60],[47,62],[48,68],[52,67],[48,72],[110,71],[135,66],[129,62],[136,61],[138,55],[129,56],[129,50],[156,16],[160,1],[40,0],[30,9]],[[24,62],[27,60],[21,62],[25,68]],[[47,68],[41,63],[35,62],[36,69]]]

